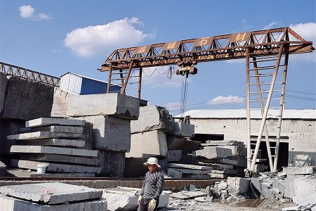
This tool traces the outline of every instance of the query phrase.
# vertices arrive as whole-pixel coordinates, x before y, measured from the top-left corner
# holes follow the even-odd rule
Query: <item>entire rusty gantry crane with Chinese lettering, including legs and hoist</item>
[[[197,63],[246,58],[246,172],[251,174],[254,171],[263,137],[270,171],[276,172],[289,54],[313,50],[312,41],[305,41],[290,27],[282,27],[117,49],[101,65],[100,71],[109,72],[107,91],[114,82],[121,85],[121,94],[126,94],[128,84],[138,84],[140,98],[143,68],[178,65],[178,74],[196,74]],[[281,73],[279,69],[282,69]],[[132,77],[136,77],[136,82],[131,82]],[[279,101],[279,115],[273,134],[275,147],[272,148],[266,121],[273,100]],[[261,125],[257,135],[251,131],[251,109],[261,110]],[[251,153],[251,138],[254,137],[256,146],[254,153]]]

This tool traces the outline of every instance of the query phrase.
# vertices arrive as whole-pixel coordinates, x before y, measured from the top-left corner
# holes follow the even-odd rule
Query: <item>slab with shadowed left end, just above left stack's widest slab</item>
[[[22,139],[15,141],[17,145],[37,145],[37,146],[72,146],[84,147],[86,142],[79,139]]]

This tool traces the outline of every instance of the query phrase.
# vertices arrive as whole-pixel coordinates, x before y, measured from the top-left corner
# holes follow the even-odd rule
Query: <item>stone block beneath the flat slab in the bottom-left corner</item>
[[[77,203],[64,203],[58,205],[39,205],[26,200],[20,200],[10,196],[0,194],[0,210],[6,211],[86,211],[98,210],[107,211],[107,202],[105,199],[89,200]]]

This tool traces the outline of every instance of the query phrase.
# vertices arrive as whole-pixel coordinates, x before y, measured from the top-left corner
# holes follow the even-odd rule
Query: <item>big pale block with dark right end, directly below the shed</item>
[[[71,96],[67,115],[70,117],[112,115],[127,120],[137,120],[139,99],[119,93]]]

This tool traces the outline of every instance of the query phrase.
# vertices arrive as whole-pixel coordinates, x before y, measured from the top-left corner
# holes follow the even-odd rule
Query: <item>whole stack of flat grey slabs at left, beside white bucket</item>
[[[47,174],[99,175],[100,153],[92,150],[92,136],[84,133],[91,130],[85,127],[91,124],[66,118],[44,117],[25,122],[22,133],[7,136],[8,140],[15,140],[11,153],[20,155],[20,159],[11,160],[11,167],[37,171],[38,165],[46,165]]]

